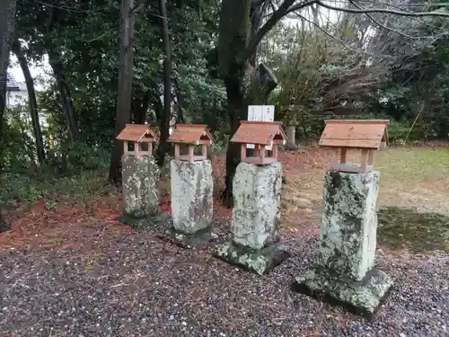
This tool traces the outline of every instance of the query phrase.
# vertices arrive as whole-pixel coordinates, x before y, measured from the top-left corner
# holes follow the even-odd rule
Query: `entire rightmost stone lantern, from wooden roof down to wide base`
[[[296,278],[299,292],[337,302],[374,318],[392,288],[392,279],[375,268],[380,173],[374,151],[386,145],[388,120],[326,120],[319,145],[339,150],[324,179],[323,215],[317,261]],[[348,163],[348,151],[361,163]]]

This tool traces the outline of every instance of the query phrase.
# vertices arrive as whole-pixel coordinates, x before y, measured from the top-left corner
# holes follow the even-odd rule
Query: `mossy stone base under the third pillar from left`
[[[228,243],[219,245],[216,250],[216,257],[221,260],[259,275],[268,273],[289,256],[289,253],[282,251],[276,244],[253,250],[240,244]]]

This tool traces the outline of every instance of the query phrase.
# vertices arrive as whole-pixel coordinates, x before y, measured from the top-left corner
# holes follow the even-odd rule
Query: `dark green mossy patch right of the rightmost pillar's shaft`
[[[383,208],[378,212],[379,244],[414,252],[449,252],[449,217],[412,209]]]

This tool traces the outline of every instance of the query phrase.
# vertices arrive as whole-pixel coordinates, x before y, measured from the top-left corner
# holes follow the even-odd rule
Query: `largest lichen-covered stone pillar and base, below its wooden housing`
[[[326,173],[317,262],[295,282],[300,292],[368,318],[392,288],[392,279],[374,268],[379,177],[378,171]]]

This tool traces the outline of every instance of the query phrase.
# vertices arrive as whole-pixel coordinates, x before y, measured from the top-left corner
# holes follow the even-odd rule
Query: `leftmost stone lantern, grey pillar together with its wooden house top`
[[[154,161],[154,143],[158,140],[149,125],[127,124],[117,136],[124,144],[122,185],[125,215],[155,215],[159,203],[159,168]]]

